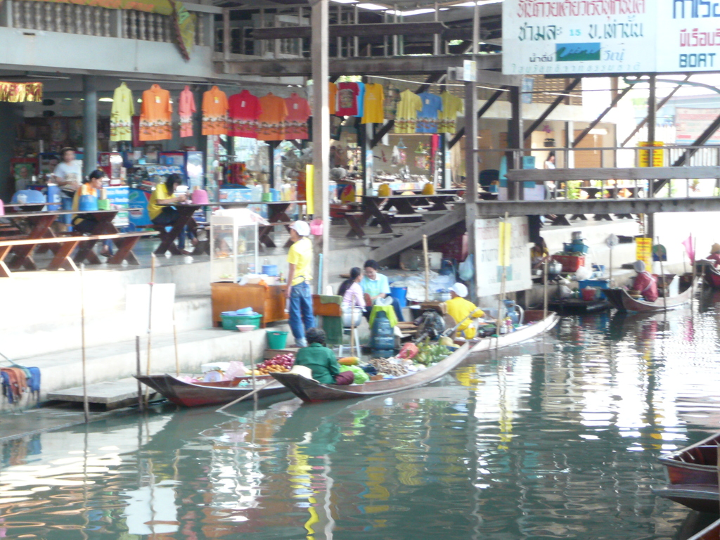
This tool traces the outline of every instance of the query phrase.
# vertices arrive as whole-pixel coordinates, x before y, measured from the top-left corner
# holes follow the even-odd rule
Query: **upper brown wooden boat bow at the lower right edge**
[[[687,448],[660,456],[670,484],[718,485],[718,444],[720,433],[715,433]]]

